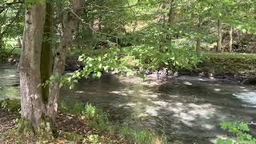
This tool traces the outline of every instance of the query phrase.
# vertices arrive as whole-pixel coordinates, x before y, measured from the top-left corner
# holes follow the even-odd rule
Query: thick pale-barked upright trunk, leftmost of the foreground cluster
[[[46,114],[42,102],[40,57],[46,5],[43,2],[26,7],[26,23],[19,65],[22,118],[35,133]]]

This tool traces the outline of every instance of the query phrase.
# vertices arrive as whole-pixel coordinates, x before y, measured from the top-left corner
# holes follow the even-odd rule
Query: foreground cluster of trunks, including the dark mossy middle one
[[[23,126],[34,134],[52,132],[58,114],[61,77],[50,86],[42,86],[53,74],[63,74],[66,51],[78,29],[83,0],[74,0],[73,9],[63,18],[63,34],[54,58],[52,71],[51,6],[40,2],[26,7],[26,24],[19,66]],[[46,13],[47,10],[47,13]],[[24,127],[23,127],[24,128]],[[26,130],[26,129],[25,129]]]

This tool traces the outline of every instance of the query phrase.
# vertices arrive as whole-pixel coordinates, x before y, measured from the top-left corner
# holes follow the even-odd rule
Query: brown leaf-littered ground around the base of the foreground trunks
[[[16,132],[15,114],[10,114],[6,110],[0,109],[0,143],[35,143],[35,142],[53,142],[53,143],[94,143],[89,138],[92,134],[98,135],[98,142],[101,143],[129,143],[124,138],[113,134],[99,133],[92,129],[73,114],[59,114],[56,122],[58,129],[58,138],[53,140],[34,138],[30,135],[20,135]]]

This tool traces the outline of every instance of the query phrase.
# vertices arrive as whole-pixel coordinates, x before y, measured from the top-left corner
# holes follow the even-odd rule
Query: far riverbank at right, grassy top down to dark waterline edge
[[[202,53],[202,62],[194,70],[181,70],[180,74],[255,84],[256,54]]]

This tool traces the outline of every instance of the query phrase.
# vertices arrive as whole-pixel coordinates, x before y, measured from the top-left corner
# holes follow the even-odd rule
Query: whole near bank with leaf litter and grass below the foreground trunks
[[[5,117],[15,115],[10,121],[13,123],[3,124],[0,118],[0,126],[10,126],[9,130],[0,129],[1,143],[166,143],[164,135],[155,134],[152,130],[132,130],[127,126],[115,125],[102,110],[89,103],[76,103],[72,106],[62,103],[56,122],[58,138],[45,135],[36,138],[33,134],[19,134],[16,128],[19,107],[17,100],[0,102],[0,114],[6,113],[3,114]]]

